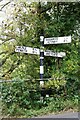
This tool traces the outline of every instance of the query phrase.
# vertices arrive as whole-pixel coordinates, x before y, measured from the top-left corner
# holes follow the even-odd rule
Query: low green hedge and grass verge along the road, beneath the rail
[[[57,88],[52,97],[40,99],[39,84],[35,80],[5,82],[1,85],[2,113],[10,116],[32,117],[63,110],[78,110],[78,81]],[[62,84],[61,84],[62,85]],[[45,109],[45,110],[43,110]]]

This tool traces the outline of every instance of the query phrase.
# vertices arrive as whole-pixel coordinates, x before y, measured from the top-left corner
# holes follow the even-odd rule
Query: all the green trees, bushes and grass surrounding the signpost
[[[39,114],[38,110],[42,113],[43,109],[46,113],[74,109],[78,105],[80,3],[18,1],[13,6],[12,16],[1,26],[0,77],[1,80],[15,79],[19,82],[2,83],[3,111],[13,116],[32,116]],[[16,45],[40,48],[42,33],[44,37],[72,36],[70,44],[45,45],[45,49],[66,52],[66,57],[44,59],[44,78],[51,78],[44,87],[52,89],[53,97],[46,98],[44,102],[39,100],[41,88],[36,86],[39,56],[14,51]],[[28,84],[24,79],[35,81]],[[34,87],[32,91],[31,87]],[[34,108],[36,113],[30,113]]]

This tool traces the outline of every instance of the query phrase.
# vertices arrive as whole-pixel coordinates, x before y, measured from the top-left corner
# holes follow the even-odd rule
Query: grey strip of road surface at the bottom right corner
[[[37,118],[76,118],[75,120],[80,120],[80,114],[78,112],[66,112],[63,114],[49,114],[44,116],[39,116]]]

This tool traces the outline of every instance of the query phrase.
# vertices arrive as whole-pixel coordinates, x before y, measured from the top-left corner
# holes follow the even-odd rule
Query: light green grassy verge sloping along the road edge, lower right
[[[41,109],[38,110],[26,110],[24,118],[31,118],[34,116],[44,116],[44,115],[48,115],[48,114],[58,114],[60,112],[64,112],[67,110],[70,111],[77,111],[77,106],[78,103],[76,102],[76,104],[74,103],[74,100],[64,100],[63,98],[58,98],[58,99],[54,99],[54,98],[49,98],[48,100],[48,105],[46,107],[42,107]],[[74,110],[73,110],[74,109]]]

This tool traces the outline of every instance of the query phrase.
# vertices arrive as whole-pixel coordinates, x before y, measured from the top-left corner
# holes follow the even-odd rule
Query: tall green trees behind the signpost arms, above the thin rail
[[[44,2],[35,2],[28,4],[25,1],[15,3],[12,18],[3,23],[2,26],[3,30],[1,34],[5,36],[5,40],[3,36],[1,38],[3,41],[1,44],[2,52],[0,53],[2,57],[2,77],[5,78],[6,74],[12,78],[17,77],[17,75],[21,78],[27,78],[28,75],[32,77],[35,76],[36,78],[39,77],[39,56],[15,53],[14,49],[16,45],[40,48],[39,39],[42,34],[44,37],[72,35],[72,43],[70,45],[45,46],[45,49],[65,51],[67,53],[66,58],[61,60],[59,58],[53,59],[50,57],[45,57],[44,61],[45,77],[51,77],[54,71],[58,69],[62,72],[65,71],[65,74],[69,72],[71,73],[72,71],[70,71],[68,64],[72,64],[72,61],[74,63],[74,59],[77,60],[76,55],[79,38],[76,33],[78,32],[77,28],[79,27],[80,22],[80,19],[78,18],[79,7],[79,3],[47,2],[47,4],[45,4]],[[76,12],[76,14],[74,14],[74,12]],[[11,40],[15,41],[14,44],[10,42]],[[75,52],[72,52],[72,55],[70,55],[70,52],[73,49]],[[3,57],[6,52],[6,56]],[[74,58],[69,55],[74,55]],[[68,63],[67,60],[69,60],[70,63]],[[65,65],[66,69],[64,67]],[[77,69],[76,66],[77,65],[74,64],[74,67]],[[31,70],[33,69],[35,71],[35,75],[33,72],[31,73]]]

